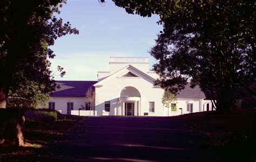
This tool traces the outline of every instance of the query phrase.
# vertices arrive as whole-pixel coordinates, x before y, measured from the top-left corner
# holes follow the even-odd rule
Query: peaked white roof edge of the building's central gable
[[[130,68],[130,69],[136,71],[137,73],[140,73],[141,75],[145,76],[146,78],[149,78],[152,82],[154,82],[154,81],[156,80],[156,79],[152,78],[151,76],[147,75],[146,73],[140,71],[139,69],[134,68],[134,66],[132,66],[132,65],[127,65],[127,66],[125,66],[123,69],[120,69],[120,70],[118,70],[118,71],[112,73],[110,76],[107,76],[106,78],[100,80],[98,83],[96,83],[96,84],[93,85],[93,86],[101,86],[101,84],[104,83],[106,80],[112,78],[113,76],[118,76],[118,74],[120,75],[120,73],[122,73],[122,72],[125,71],[125,70],[128,70],[128,68]],[[129,70],[129,71],[130,71],[130,70]]]

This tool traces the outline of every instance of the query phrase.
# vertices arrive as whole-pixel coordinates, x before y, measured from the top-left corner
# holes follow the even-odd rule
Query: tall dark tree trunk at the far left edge
[[[23,1],[10,1],[12,29],[14,32],[10,35],[7,46],[8,55],[5,58],[3,69],[0,70],[0,107],[6,107],[6,100],[12,82],[12,76],[15,73],[16,64],[22,57],[26,56],[25,52],[25,30],[29,15],[36,3]],[[24,5],[26,8],[21,8]],[[22,14],[21,14],[22,13]]]

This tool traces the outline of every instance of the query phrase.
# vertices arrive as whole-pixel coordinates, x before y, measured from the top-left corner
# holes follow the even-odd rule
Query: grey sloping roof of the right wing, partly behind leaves
[[[188,82],[187,85],[185,85],[185,89],[179,92],[177,98],[205,98],[205,93],[201,91],[198,85],[193,89],[190,85],[191,84]]]

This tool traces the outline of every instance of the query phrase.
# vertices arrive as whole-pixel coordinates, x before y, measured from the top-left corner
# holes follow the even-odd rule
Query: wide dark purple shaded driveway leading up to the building
[[[215,161],[205,137],[168,117],[89,117],[39,160]],[[50,155],[50,156],[49,156]]]

